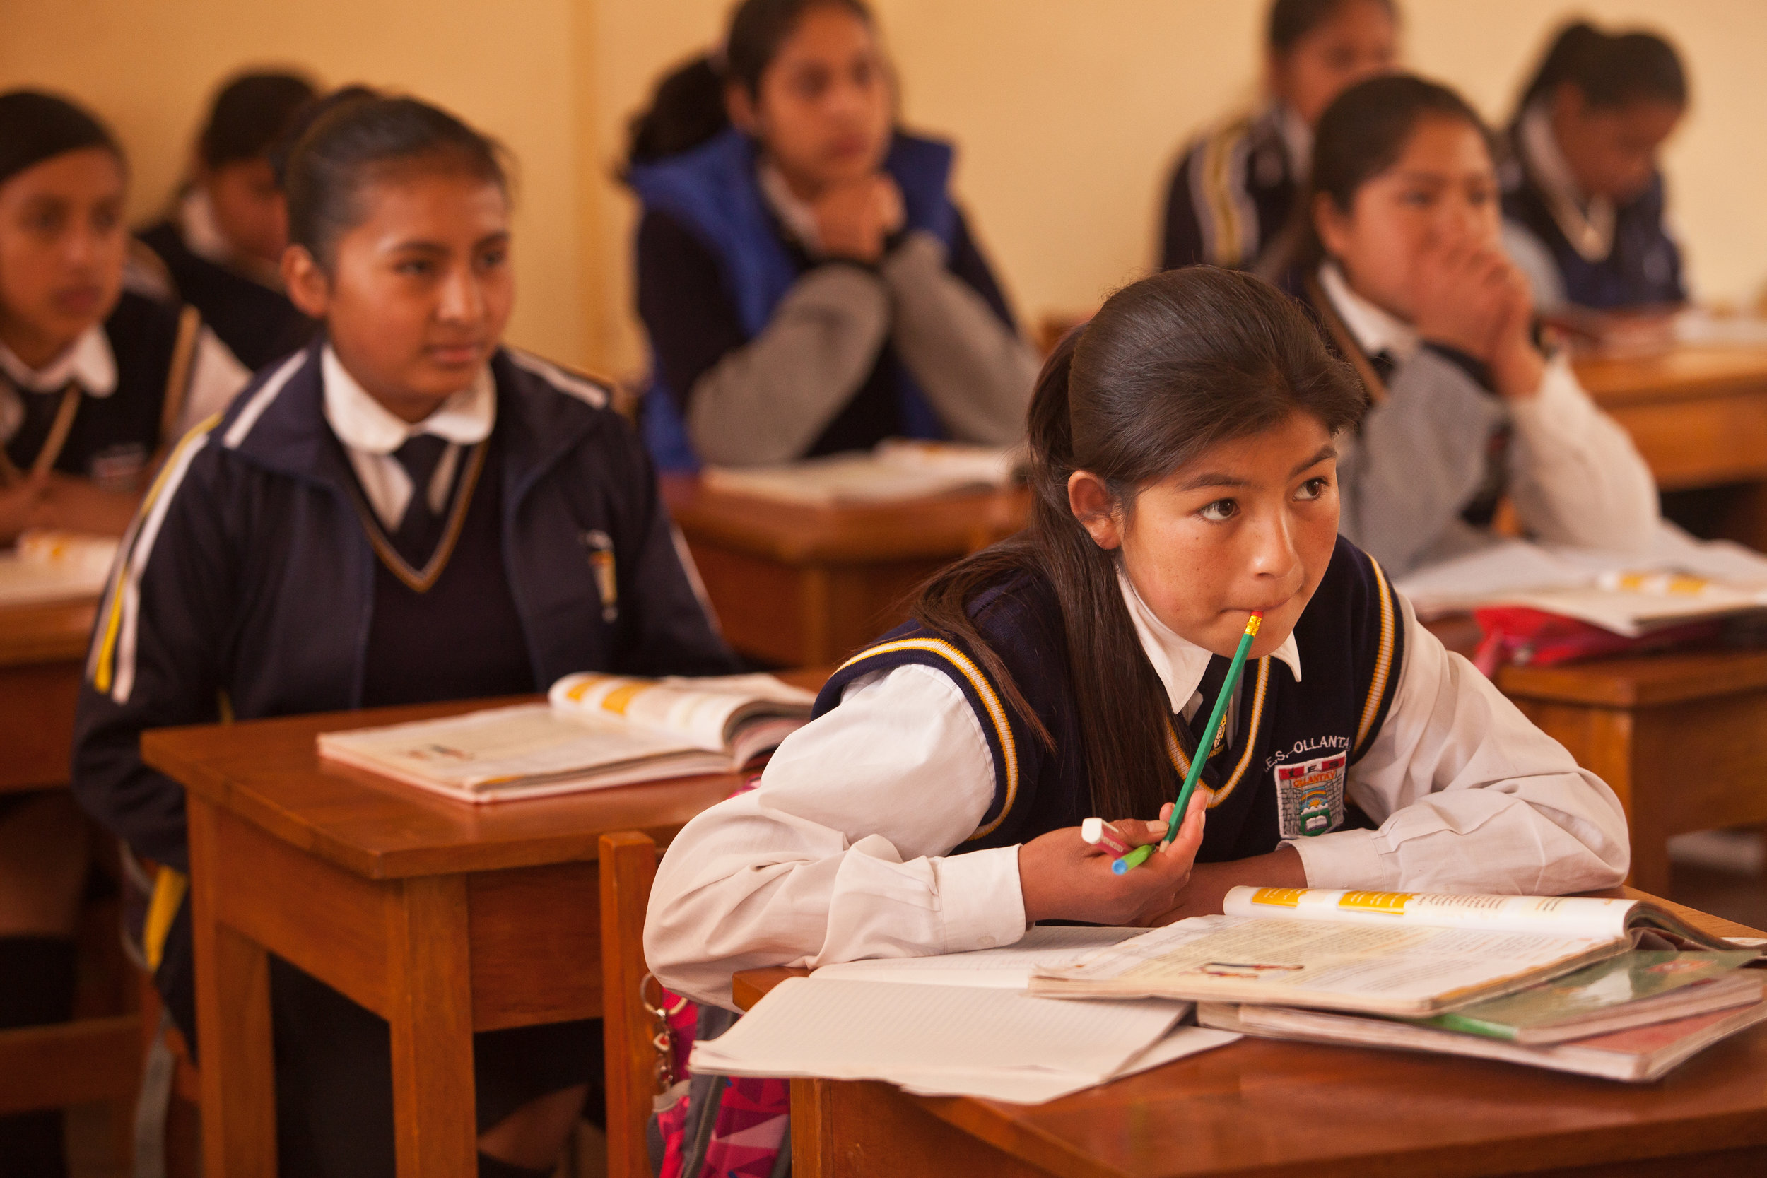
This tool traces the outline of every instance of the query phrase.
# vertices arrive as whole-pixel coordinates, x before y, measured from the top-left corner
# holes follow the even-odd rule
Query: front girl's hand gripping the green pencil
[[[1140,867],[1113,874],[1110,851],[1080,837],[1080,827],[1051,830],[1018,848],[1018,878],[1025,894],[1025,920],[1087,920],[1090,924],[1138,924],[1170,910],[1191,878],[1191,864],[1203,842],[1202,791],[1191,795],[1191,809],[1172,846],[1154,851]],[[1126,819],[1115,823],[1124,837],[1141,846],[1166,835],[1172,804],[1159,811],[1161,821]]]

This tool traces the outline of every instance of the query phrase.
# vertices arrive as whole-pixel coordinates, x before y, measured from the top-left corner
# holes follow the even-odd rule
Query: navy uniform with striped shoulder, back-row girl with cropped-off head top
[[[1285,102],[1203,132],[1172,170],[1159,268],[1279,272],[1311,161],[1313,129]]]

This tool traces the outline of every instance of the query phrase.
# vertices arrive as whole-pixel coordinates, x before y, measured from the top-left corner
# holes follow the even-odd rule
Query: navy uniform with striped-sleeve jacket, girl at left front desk
[[[101,606],[72,784],[136,855],[184,872],[184,791],[141,763],[141,729],[217,721],[221,699],[256,719],[581,669],[733,669],[608,392],[505,348],[412,426],[318,339],[193,431],[143,503]],[[187,911],[148,954],[191,1033]],[[272,993],[290,1173],[391,1173],[385,1023],[281,963]],[[595,1035],[477,1037],[481,1127],[585,1083]]]

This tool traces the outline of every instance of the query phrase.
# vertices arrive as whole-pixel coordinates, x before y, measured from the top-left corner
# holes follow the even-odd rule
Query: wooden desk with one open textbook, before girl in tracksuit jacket
[[[825,673],[786,678],[818,687]],[[484,703],[141,736],[189,798],[207,1173],[276,1173],[274,952],[391,1024],[401,1178],[474,1178],[472,1033],[601,1014],[597,841],[668,842],[735,786],[724,774],[474,807],[318,759],[322,731]]]

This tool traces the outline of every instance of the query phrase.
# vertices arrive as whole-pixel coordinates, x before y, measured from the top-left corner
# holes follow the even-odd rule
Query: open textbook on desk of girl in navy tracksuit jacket
[[[466,802],[742,768],[809,721],[770,675],[567,675],[548,703],[322,733],[320,756]]]

